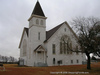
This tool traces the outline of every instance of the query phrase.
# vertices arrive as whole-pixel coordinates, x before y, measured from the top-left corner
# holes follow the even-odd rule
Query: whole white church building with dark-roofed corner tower
[[[46,31],[46,19],[39,1],[23,29],[20,40],[20,64],[26,66],[78,65],[85,60],[78,50],[78,37],[65,21]]]

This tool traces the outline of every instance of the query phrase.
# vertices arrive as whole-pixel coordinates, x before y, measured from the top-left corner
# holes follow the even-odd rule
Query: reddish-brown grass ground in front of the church
[[[86,65],[52,66],[52,67],[18,67],[17,64],[4,64],[5,71],[0,75],[100,75],[100,62]]]

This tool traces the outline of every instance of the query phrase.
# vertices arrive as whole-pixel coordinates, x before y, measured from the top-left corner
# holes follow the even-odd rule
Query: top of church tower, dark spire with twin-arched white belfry
[[[45,14],[41,8],[39,1],[37,1],[36,5],[33,9],[33,12],[31,14],[30,18],[28,19],[29,28],[33,25],[46,27],[46,19],[47,19],[47,17],[45,17]]]

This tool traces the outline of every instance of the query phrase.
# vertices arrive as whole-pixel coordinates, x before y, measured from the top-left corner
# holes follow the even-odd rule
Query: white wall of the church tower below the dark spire
[[[36,19],[39,20],[39,24],[36,24]],[[41,25],[41,20],[43,20],[43,25]],[[43,44],[46,39],[46,19],[33,17],[29,21],[29,58],[28,66],[34,66],[36,63],[36,53],[34,50],[41,44]],[[38,40],[38,32],[40,32],[40,40]]]

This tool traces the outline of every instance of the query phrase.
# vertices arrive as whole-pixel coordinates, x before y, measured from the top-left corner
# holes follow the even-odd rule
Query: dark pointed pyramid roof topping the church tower
[[[44,16],[45,17],[39,1],[37,1],[37,3],[36,3],[36,5],[34,7],[34,10],[32,12],[32,15],[39,15],[39,16]]]

